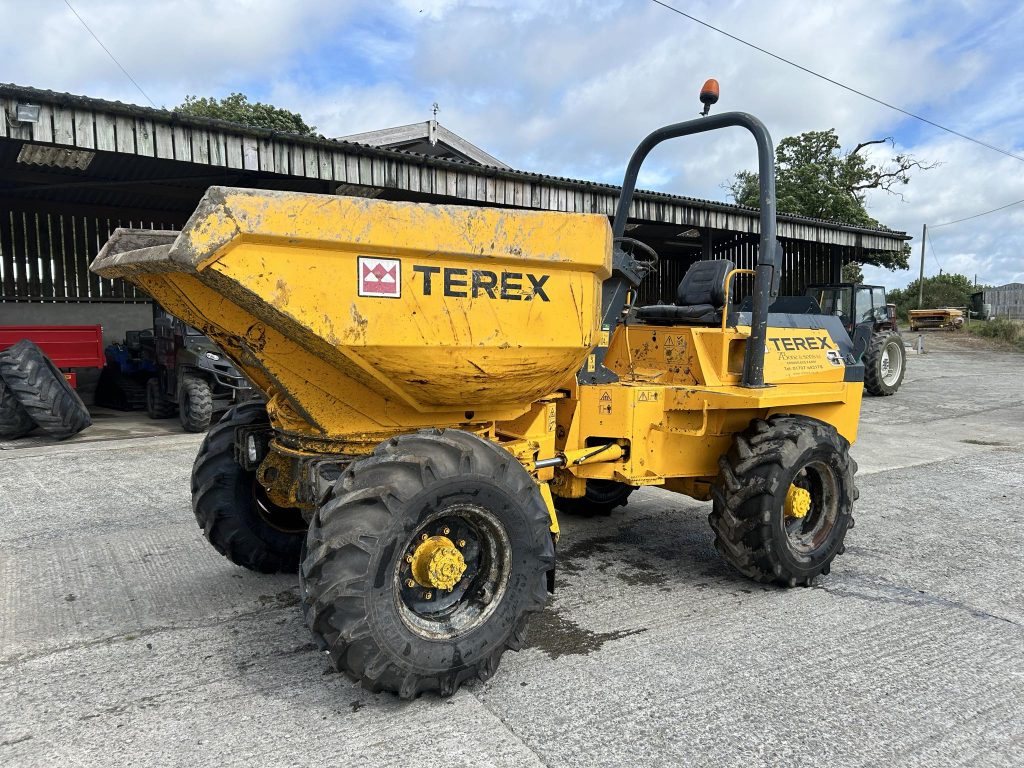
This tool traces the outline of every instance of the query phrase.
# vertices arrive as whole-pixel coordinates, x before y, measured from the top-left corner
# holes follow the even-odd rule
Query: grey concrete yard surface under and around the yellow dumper
[[[710,505],[563,517],[529,646],[447,699],[335,673],[295,577],[202,538],[202,439],[0,451],[0,766],[1019,766],[1024,355],[941,334],[865,398],[845,555],[721,561]]]

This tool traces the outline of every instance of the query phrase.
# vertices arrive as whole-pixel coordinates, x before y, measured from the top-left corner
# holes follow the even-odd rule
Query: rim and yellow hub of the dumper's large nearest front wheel
[[[481,626],[508,591],[510,553],[505,526],[483,507],[457,504],[428,516],[395,562],[394,597],[402,623],[431,640]],[[437,565],[434,581],[426,575],[425,557]]]

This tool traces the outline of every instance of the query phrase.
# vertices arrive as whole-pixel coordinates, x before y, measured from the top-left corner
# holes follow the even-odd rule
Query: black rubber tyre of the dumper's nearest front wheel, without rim
[[[482,637],[478,653],[472,660],[460,653],[459,663],[438,672],[418,667],[440,647],[431,645],[434,641],[402,627],[409,651],[389,653],[375,637],[369,616],[375,599],[374,573],[380,580],[381,573],[392,572],[394,561],[389,553],[402,546],[403,538],[416,530],[420,515],[428,513],[424,495],[441,493],[444,483],[455,480],[463,488],[490,482],[510,501],[526,502],[518,506],[520,512],[511,513],[523,530],[513,530],[509,520],[499,515],[514,552],[510,592],[502,598],[503,604],[466,635],[438,641],[458,649],[468,645],[470,638],[477,643]],[[417,508],[407,506],[414,502]],[[506,509],[502,514],[510,513]],[[518,522],[521,517],[526,519]],[[524,645],[529,614],[543,610],[548,600],[547,573],[554,567],[549,525],[547,508],[532,478],[514,457],[489,440],[454,429],[391,438],[378,445],[373,456],[350,465],[313,516],[299,571],[306,624],[334,666],[369,690],[389,690],[406,699],[428,691],[452,695],[468,680],[489,679],[506,649],[519,650]],[[517,568],[522,588],[513,594]],[[393,593],[387,589],[376,599],[393,601]],[[505,606],[510,599],[513,602]],[[376,603],[374,610],[385,607],[383,602]],[[505,607],[504,612],[511,611],[514,618],[501,627],[497,615]]]

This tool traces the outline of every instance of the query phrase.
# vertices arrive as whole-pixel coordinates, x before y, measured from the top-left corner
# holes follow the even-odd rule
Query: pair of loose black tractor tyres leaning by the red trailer
[[[0,351],[0,439],[39,427],[63,440],[90,424],[82,398],[42,349],[23,339]]]

